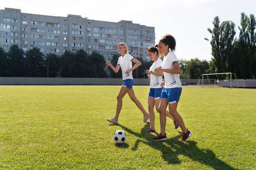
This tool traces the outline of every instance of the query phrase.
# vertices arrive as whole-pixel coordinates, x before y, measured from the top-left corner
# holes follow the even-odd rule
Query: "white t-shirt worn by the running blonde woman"
[[[122,74],[123,74],[123,80],[126,79],[133,79],[132,77],[132,71],[130,74],[126,74],[125,72],[132,68],[132,60],[134,57],[132,57],[130,54],[124,54],[123,56],[120,56],[118,58],[117,64],[121,66]]]

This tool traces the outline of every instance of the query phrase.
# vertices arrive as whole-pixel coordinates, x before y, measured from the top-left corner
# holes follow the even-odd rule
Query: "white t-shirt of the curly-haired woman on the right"
[[[166,56],[164,56],[164,61],[162,63],[162,68],[172,69],[173,63],[178,62],[176,55],[173,52],[168,52]],[[164,87],[175,88],[182,87],[180,81],[180,74],[171,74],[164,72]]]

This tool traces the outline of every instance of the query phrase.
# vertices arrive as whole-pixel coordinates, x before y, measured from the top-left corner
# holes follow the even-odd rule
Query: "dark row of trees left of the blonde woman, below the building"
[[[8,52],[0,48],[0,76],[2,77],[106,77],[105,59],[101,54],[64,52],[61,57],[49,53],[43,56],[38,48],[24,52],[14,44]]]

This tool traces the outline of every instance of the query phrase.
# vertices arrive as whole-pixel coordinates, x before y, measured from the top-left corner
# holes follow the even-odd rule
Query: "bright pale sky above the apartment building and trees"
[[[155,27],[155,42],[165,34],[176,39],[178,59],[210,61],[213,19],[232,21],[239,35],[241,13],[256,17],[256,0],[4,0],[0,9],[20,9],[22,13],[67,17],[81,15],[90,20],[132,21]]]

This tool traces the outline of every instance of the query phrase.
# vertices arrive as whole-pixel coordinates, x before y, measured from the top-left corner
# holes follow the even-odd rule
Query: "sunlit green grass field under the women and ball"
[[[120,86],[0,86],[0,169],[256,169],[256,89],[184,87],[178,105],[188,142],[167,119],[168,140],[144,133]],[[148,86],[134,86],[147,110]],[[159,116],[156,113],[156,131]],[[115,144],[116,130],[127,134]]]

